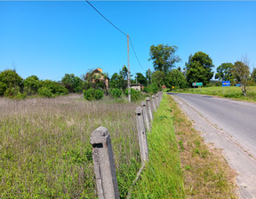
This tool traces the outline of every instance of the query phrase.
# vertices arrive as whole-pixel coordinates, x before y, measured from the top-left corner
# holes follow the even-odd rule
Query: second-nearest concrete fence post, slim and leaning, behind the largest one
[[[146,129],[143,118],[143,108],[136,107],[135,110],[136,120],[137,120],[137,130],[138,130],[138,138],[140,143],[140,158],[141,162],[148,162],[148,141],[146,135]]]

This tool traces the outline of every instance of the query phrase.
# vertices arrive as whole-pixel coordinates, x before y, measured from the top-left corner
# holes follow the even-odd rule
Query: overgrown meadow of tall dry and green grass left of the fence
[[[0,198],[96,198],[90,134],[101,125],[124,198],[140,169],[138,103],[0,98]]]

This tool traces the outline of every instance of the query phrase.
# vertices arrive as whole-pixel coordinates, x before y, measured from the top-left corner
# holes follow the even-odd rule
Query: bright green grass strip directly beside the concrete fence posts
[[[132,198],[184,198],[180,155],[168,96],[154,114],[148,133],[149,163],[133,188]]]

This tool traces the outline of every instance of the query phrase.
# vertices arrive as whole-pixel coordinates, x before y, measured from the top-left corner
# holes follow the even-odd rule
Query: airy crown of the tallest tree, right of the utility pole
[[[153,60],[155,70],[164,71],[164,74],[166,74],[175,66],[176,62],[180,61],[180,57],[174,54],[177,49],[178,47],[175,45],[151,45],[149,52],[150,58],[148,60]]]

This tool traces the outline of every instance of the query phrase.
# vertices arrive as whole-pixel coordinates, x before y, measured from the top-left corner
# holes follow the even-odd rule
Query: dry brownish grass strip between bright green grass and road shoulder
[[[174,129],[187,198],[236,198],[236,172],[222,157],[220,150],[204,144],[200,133],[171,97]]]

